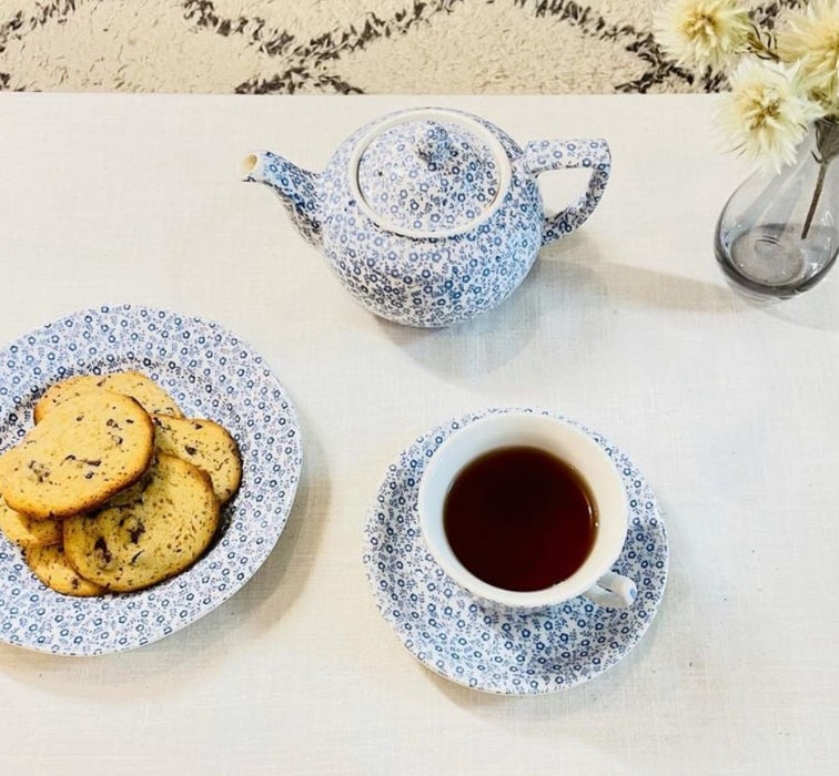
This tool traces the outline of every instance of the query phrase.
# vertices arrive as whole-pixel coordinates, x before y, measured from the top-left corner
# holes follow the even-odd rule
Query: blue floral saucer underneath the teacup
[[[613,570],[635,580],[628,609],[584,598],[523,612],[485,602],[457,585],[428,552],[416,499],[428,459],[451,433],[506,411],[554,415],[585,431],[620,470],[629,530]],[[587,682],[623,660],[653,622],[667,582],[668,543],[656,497],[617,447],[585,426],[535,409],[469,413],[418,437],[387,469],[367,515],[364,564],[373,594],[402,643],[428,668],[467,687],[538,695]]]

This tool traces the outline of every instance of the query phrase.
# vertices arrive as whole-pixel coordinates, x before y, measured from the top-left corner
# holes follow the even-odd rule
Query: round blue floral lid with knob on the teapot
[[[355,150],[350,180],[367,215],[417,237],[444,237],[485,221],[509,183],[509,161],[483,124],[454,111],[406,111]]]

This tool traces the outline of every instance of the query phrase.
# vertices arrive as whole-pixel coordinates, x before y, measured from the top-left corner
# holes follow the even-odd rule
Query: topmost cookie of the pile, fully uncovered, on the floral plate
[[[154,426],[134,399],[82,394],[55,406],[3,463],[0,496],[32,519],[85,512],[140,479]]]

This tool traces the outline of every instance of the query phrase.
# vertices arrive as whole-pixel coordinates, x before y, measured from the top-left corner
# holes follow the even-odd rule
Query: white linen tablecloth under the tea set
[[[615,160],[583,229],[502,307],[446,330],[362,309],[275,197],[237,181],[253,149],[322,169],[366,120],[422,104],[520,142],[603,135]],[[276,549],[204,619],[102,657],[0,646],[0,770],[839,772],[839,274],[764,308],[728,289],[712,229],[747,171],[719,152],[714,105],[0,95],[0,339],[123,302],[215,319],[279,376],[305,448]],[[562,177],[544,176],[548,202]],[[499,405],[610,437],[670,541],[643,642],[595,681],[530,698],[416,662],[362,564],[387,463],[435,423]]]

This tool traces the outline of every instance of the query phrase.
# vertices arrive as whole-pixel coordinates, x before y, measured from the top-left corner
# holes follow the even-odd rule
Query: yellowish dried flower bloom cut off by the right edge
[[[801,79],[815,99],[828,109],[839,103],[839,2],[812,0],[790,12],[778,30],[778,54],[798,62]]]

